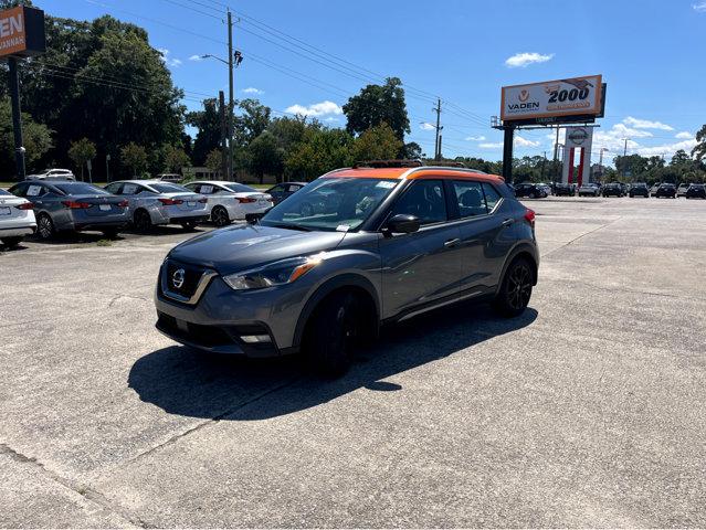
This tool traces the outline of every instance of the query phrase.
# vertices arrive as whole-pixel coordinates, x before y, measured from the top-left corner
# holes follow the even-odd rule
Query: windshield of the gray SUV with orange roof
[[[261,222],[295,230],[356,230],[398,183],[393,179],[318,179],[274,206]]]

